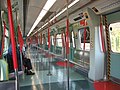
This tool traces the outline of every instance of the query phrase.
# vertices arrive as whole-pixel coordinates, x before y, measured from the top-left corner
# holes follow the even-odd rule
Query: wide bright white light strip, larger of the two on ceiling
[[[33,24],[27,36],[30,35],[30,33],[34,30],[34,28],[37,26],[37,24],[41,21],[41,19],[45,16],[45,14],[49,11],[49,9],[53,6],[55,2],[56,0],[47,0],[46,4],[44,5],[43,9],[39,13],[35,23]]]

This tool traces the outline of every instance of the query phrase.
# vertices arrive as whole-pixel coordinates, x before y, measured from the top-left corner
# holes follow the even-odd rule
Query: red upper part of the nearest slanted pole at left
[[[17,64],[16,43],[15,43],[12,8],[11,8],[10,0],[7,0],[7,6],[8,6],[8,19],[9,19],[9,25],[10,25],[10,38],[11,38],[11,45],[12,45],[13,65],[15,70],[18,68],[18,64]]]

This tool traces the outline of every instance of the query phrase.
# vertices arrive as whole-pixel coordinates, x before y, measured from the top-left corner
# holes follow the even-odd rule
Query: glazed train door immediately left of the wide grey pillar
[[[80,35],[80,60],[79,64],[89,70],[89,57],[90,57],[90,30],[85,27],[79,30]]]

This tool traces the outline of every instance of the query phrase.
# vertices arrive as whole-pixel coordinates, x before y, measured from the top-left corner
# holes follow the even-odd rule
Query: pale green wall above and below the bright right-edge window
[[[107,16],[108,24],[120,22],[120,11]],[[111,76],[120,79],[120,53],[111,53]]]

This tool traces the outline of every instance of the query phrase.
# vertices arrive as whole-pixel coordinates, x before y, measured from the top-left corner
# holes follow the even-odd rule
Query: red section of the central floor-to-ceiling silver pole
[[[66,20],[66,54],[69,54],[69,19]]]

